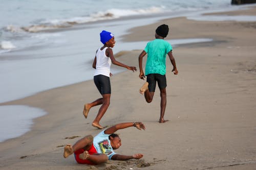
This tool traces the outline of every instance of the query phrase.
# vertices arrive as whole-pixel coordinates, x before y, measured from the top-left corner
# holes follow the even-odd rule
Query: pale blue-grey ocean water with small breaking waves
[[[123,42],[121,36],[133,27],[160,19],[186,16],[196,20],[253,20],[251,16],[203,16],[205,12],[241,9],[229,0],[159,0],[159,1],[81,1],[81,0],[0,0],[0,103],[22,99],[40,91],[78,83],[93,78],[92,60],[102,44],[99,33],[115,34],[114,53],[143,49],[146,42]],[[255,20],[255,19],[254,19]],[[154,38],[154,33],[152,34]],[[173,46],[182,43],[211,41],[210,39],[170,40]],[[124,68],[112,69],[116,74]],[[16,106],[13,106],[16,108]],[[1,116],[20,116],[31,120],[45,112],[34,108],[0,106]],[[30,116],[27,115],[31,109]],[[13,114],[9,114],[12,112]],[[37,115],[35,112],[39,112]],[[36,115],[33,116],[32,114]],[[22,135],[19,120],[0,123],[10,129],[4,141]]]

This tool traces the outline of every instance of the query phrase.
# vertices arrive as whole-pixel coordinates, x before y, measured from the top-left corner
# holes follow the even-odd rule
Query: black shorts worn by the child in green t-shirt
[[[149,74],[146,76],[146,81],[148,82],[148,91],[150,92],[155,92],[156,82],[160,90],[167,86],[165,75]]]

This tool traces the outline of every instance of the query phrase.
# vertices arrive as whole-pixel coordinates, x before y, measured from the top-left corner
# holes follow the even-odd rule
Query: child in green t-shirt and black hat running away
[[[174,68],[174,74],[178,74],[176,68],[175,59],[172,53],[172,45],[170,45],[164,38],[167,36],[169,28],[167,25],[161,25],[156,29],[156,39],[147,43],[145,49],[139,55],[139,78],[146,78],[146,83],[140,88],[140,93],[144,94],[147,103],[151,103],[156,89],[156,82],[160,89],[161,96],[161,112],[159,123],[165,123],[168,120],[164,120],[164,112],[166,107],[166,54],[169,56],[170,62],[172,62]],[[142,59],[147,54],[145,75],[142,69]]]

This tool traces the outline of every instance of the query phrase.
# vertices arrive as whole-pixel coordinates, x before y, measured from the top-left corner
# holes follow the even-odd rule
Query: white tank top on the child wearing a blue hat
[[[111,66],[111,59],[110,57],[106,56],[106,49],[105,47],[103,50],[98,49],[96,53],[96,69],[94,72],[94,76],[97,75],[104,75],[110,77],[110,66]]]

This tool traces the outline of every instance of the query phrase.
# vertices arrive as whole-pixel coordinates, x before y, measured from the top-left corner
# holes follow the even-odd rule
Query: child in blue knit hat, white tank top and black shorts
[[[102,98],[99,98],[92,103],[85,104],[83,108],[83,115],[87,118],[89,110],[92,107],[101,105],[96,118],[93,120],[92,126],[98,129],[103,129],[103,127],[99,124],[99,121],[110,105],[110,76],[112,76],[110,72],[111,62],[115,65],[125,67],[132,71],[136,71],[137,69],[134,66],[127,66],[115,60],[112,51],[112,48],[115,46],[116,42],[114,34],[103,30],[100,33],[100,41],[104,45],[98,48],[96,51],[96,56],[93,61],[93,68],[95,68],[94,83],[102,95]]]

